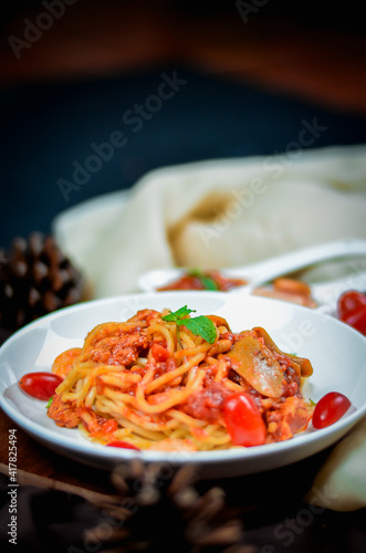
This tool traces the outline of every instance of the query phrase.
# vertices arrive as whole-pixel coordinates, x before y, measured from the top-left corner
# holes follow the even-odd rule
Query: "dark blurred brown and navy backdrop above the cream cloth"
[[[48,232],[60,211],[130,187],[156,167],[283,152],[303,119],[328,127],[312,147],[365,142],[365,105],[354,102],[365,97],[357,7],[247,4],[253,9],[243,15],[244,2],[79,0],[17,59],[9,38],[24,39],[28,22],[46,10],[7,2],[0,244]],[[124,113],[175,71],[187,84],[134,133]],[[71,181],[73,164],[84,166],[91,144],[116,129],[127,145],[65,198],[57,180]]]

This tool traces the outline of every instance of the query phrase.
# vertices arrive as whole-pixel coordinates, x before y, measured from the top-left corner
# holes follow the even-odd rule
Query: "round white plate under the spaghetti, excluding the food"
[[[345,394],[351,409],[333,426],[309,428],[289,441],[248,449],[163,452],[114,449],[91,444],[77,429],[59,428],[45,413],[45,401],[27,396],[18,380],[25,373],[50,371],[62,351],[82,345],[98,323],[125,321],[139,309],[177,310],[187,304],[197,314],[220,314],[234,332],[263,326],[287,352],[309,357],[314,367],[304,395],[318,400],[327,392]],[[220,292],[160,292],[109,298],[55,312],[29,324],[0,349],[0,405],[34,439],[82,463],[111,469],[138,456],[168,466],[197,463],[203,478],[239,476],[274,469],[311,456],[345,435],[366,414],[366,340],[322,313],[271,299]]]

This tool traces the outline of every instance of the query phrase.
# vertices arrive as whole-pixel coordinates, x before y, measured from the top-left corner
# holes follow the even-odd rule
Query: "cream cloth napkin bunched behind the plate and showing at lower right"
[[[154,268],[232,267],[366,238],[365,220],[366,145],[359,145],[158,169],[127,197],[62,213],[54,233],[84,270],[94,298],[104,298],[135,292],[138,276]],[[323,507],[366,507],[365,455],[364,420],[314,482],[326,490]]]

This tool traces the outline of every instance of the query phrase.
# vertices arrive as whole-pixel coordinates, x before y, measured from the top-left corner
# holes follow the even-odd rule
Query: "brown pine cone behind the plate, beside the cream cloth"
[[[52,236],[33,232],[0,250],[0,325],[9,333],[82,301],[84,282]]]

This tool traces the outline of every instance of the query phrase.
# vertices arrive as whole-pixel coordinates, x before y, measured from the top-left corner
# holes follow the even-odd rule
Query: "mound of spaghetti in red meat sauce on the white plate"
[[[209,315],[203,319],[216,332],[210,343],[185,320],[177,332],[177,322],[165,320],[168,313],[146,309],[126,322],[100,324],[83,347],[59,355],[52,372],[63,380],[49,417],[79,427],[92,441],[159,450],[243,446],[229,421],[229,401],[238,396],[254,405],[262,442],[306,427],[312,407],[301,389],[312,374],[307,359],[281,352],[261,327],[233,333],[224,319]]]

